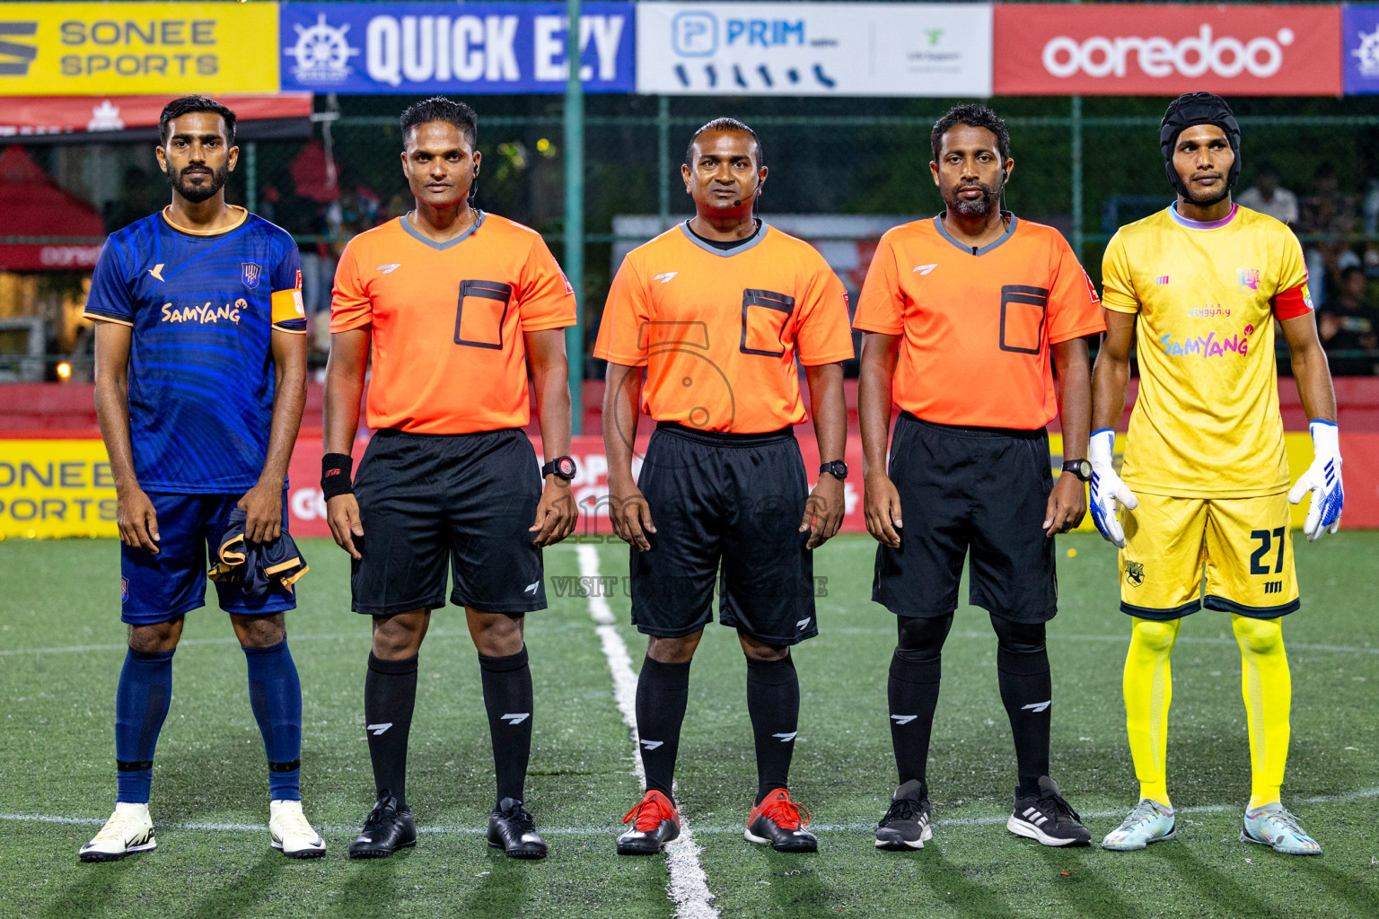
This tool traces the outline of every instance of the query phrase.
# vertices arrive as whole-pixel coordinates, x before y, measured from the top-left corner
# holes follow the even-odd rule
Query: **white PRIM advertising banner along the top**
[[[637,92],[992,95],[976,3],[641,3]]]

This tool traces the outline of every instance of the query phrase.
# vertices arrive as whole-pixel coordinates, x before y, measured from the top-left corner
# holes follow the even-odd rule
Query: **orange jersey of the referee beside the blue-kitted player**
[[[545,240],[480,211],[433,242],[407,216],[360,233],[335,270],[331,332],[372,325],[368,426],[414,434],[523,427],[524,332],[575,324],[575,296]]]

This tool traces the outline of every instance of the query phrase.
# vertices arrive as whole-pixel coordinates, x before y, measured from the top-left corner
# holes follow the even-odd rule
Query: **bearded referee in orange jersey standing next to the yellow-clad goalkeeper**
[[[1044,623],[1058,608],[1051,537],[1087,510],[1085,336],[1106,327],[1058,230],[1000,209],[1015,168],[1005,123],[983,106],[957,106],[931,141],[945,211],[881,237],[854,318],[866,333],[866,524],[881,543],[872,599],[899,621],[888,696],[900,787],[876,845],[923,849],[932,836],[924,766],[939,656],[971,555],[968,602],[990,613],[1015,736],[1019,785],[1007,828],[1047,846],[1085,846],[1087,828],[1048,777]],[[902,412],[888,463],[892,401]],[[1056,484],[1044,431],[1055,415],[1065,459]]]

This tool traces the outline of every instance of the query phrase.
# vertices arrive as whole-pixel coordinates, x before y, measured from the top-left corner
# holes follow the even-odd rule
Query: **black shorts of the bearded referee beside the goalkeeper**
[[[1054,477],[1043,428],[953,427],[902,412],[889,475],[905,526],[899,548],[877,547],[872,599],[898,616],[947,616],[971,548],[972,606],[1015,623],[1054,619],[1054,540],[1044,536]]]

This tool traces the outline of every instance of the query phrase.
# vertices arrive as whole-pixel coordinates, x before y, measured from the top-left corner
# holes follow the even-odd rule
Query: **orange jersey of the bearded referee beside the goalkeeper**
[[[1049,344],[1106,331],[1063,236],[1008,216],[975,252],[939,215],[888,230],[872,258],[852,327],[903,335],[892,398],[925,422],[1044,427],[1058,415]]]

